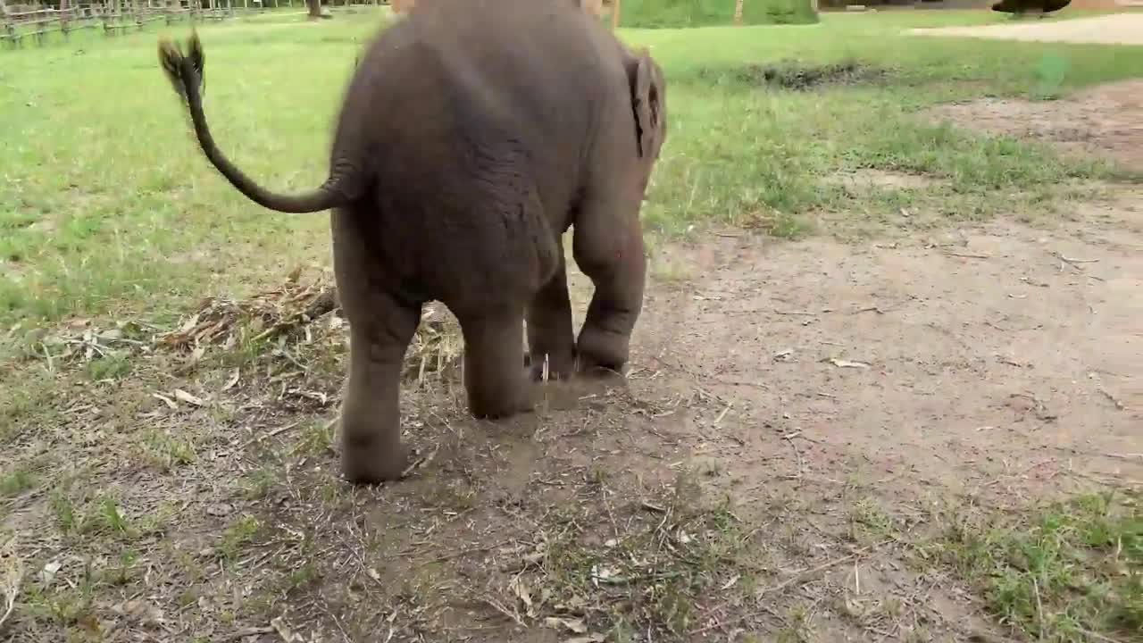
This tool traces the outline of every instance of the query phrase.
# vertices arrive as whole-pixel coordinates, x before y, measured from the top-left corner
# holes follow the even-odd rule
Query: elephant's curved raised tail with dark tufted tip
[[[311,192],[297,196],[278,195],[258,185],[242,170],[234,167],[234,164],[230,162],[230,159],[215,146],[210,128],[207,126],[207,117],[202,113],[202,96],[199,93],[199,86],[203,78],[203,55],[198,32],[191,33],[187,48],[187,54],[183,55],[182,49],[176,43],[166,38],[161,39],[159,41],[159,63],[174,85],[175,92],[186,101],[191,111],[191,121],[194,124],[194,135],[198,137],[199,145],[207,159],[239,192],[263,207],[287,213],[321,212],[344,205],[357,196],[350,193],[346,178],[336,174],[331,174],[320,188]]]

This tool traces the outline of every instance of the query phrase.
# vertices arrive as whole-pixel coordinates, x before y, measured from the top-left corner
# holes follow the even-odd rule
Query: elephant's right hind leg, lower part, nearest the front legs
[[[531,407],[523,360],[523,307],[498,305],[457,315],[464,334],[464,388],[469,411],[497,419]]]

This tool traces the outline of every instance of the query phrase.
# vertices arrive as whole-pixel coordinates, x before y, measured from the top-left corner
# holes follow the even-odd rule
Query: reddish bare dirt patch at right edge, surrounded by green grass
[[[1137,17],[1135,29],[1143,39],[1143,15]],[[1143,172],[1143,80],[1101,85],[1060,101],[983,98],[952,103],[929,116],[993,134],[1045,141],[1066,153]]]

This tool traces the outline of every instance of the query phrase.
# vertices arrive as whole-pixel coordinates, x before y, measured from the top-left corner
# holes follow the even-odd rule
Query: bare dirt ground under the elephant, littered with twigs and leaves
[[[25,578],[7,633],[1014,636],[904,534],[966,506],[1143,485],[1143,189],[1109,191],[1040,228],[1001,215],[858,246],[732,230],[662,248],[628,376],[549,384],[506,422],[465,414],[456,340],[426,319],[402,400],[421,460],[376,489],[339,481],[325,421],[345,366],[336,311],[217,363],[208,340],[229,331],[207,312],[230,309],[215,302],[175,335],[205,352],[136,347],[127,375],[30,404],[51,422],[17,434],[0,469],[53,470],[0,505],[21,539],[0,562]],[[590,289],[572,280],[581,318]],[[323,301],[299,287],[264,305],[289,297]],[[113,342],[79,328],[82,347]]]

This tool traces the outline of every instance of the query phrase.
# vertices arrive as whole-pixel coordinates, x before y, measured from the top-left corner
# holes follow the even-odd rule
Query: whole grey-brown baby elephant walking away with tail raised
[[[279,212],[333,209],[334,268],[350,325],[342,468],[398,478],[398,390],[422,304],[464,335],[470,411],[531,407],[544,358],[558,379],[621,371],[642,307],[639,209],[665,136],[658,65],[577,2],[419,2],[369,45],[344,97],[328,180],[271,193],[219,152],[202,114],[201,43],[160,42],[207,158]],[[596,291],[578,338],[560,236]],[[522,347],[527,318],[528,358]]]

